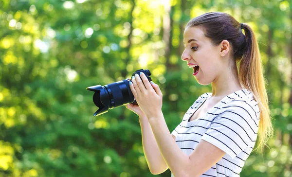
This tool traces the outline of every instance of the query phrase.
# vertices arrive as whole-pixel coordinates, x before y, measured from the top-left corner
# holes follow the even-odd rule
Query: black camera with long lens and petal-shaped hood
[[[133,72],[132,76],[136,73],[140,76],[140,72],[146,75],[149,82],[151,81],[151,77],[149,77],[151,73],[149,70],[137,70]],[[87,90],[94,91],[93,103],[99,108],[93,116],[106,113],[109,109],[115,107],[128,105],[129,103],[137,103],[129,87],[130,81],[131,79],[125,79],[105,86],[97,85],[86,88]]]

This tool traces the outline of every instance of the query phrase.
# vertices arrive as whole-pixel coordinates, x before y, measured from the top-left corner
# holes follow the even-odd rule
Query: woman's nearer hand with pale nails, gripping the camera
[[[133,84],[130,84],[135,100],[148,119],[159,116],[162,113],[162,92],[157,84],[148,81],[143,72],[140,72],[140,77],[138,74],[133,76]]]

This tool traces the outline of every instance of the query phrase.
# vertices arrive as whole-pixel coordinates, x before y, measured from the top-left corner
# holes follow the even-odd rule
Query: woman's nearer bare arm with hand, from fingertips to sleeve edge
[[[202,173],[204,173],[203,170],[211,168],[214,164],[216,164],[218,160],[225,155],[225,152],[210,142],[204,143],[202,140],[199,142],[191,156],[183,153],[181,148],[176,144],[176,142],[173,141],[173,138],[165,123],[164,116],[161,111],[161,90],[158,85],[154,83],[152,83],[152,88],[145,74],[142,72],[141,77],[145,81],[145,86],[137,74],[136,78],[138,84],[136,79],[133,78],[133,84],[130,82],[130,88],[141,110],[143,110],[148,118],[153,135],[165,163],[175,177],[198,177],[202,175]],[[198,147],[200,148],[199,150],[197,149]],[[209,151],[212,151],[213,153],[210,153]],[[194,160],[198,163],[192,164]],[[199,164],[199,162],[204,160],[205,162]],[[196,165],[196,169],[193,168],[194,165]]]

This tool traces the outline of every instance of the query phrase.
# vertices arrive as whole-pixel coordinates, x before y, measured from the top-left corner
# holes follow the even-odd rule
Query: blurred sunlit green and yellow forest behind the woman
[[[255,30],[273,113],[269,147],[240,176],[292,177],[289,0],[0,0],[0,177],[152,177],[138,116],[94,117],[85,88],[149,69],[171,132],[211,91],[180,59],[185,24],[211,11]]]

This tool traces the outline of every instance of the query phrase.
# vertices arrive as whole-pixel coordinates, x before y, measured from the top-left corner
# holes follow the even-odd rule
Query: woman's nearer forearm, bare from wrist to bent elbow
[[[185,177],[186,169],[190,163],[189,157],[183,153],[181,148],[173,141],[173,138],[165,123],[163,113],[149,118],[155,140],[160,149],[165,163],[175,177]]]

